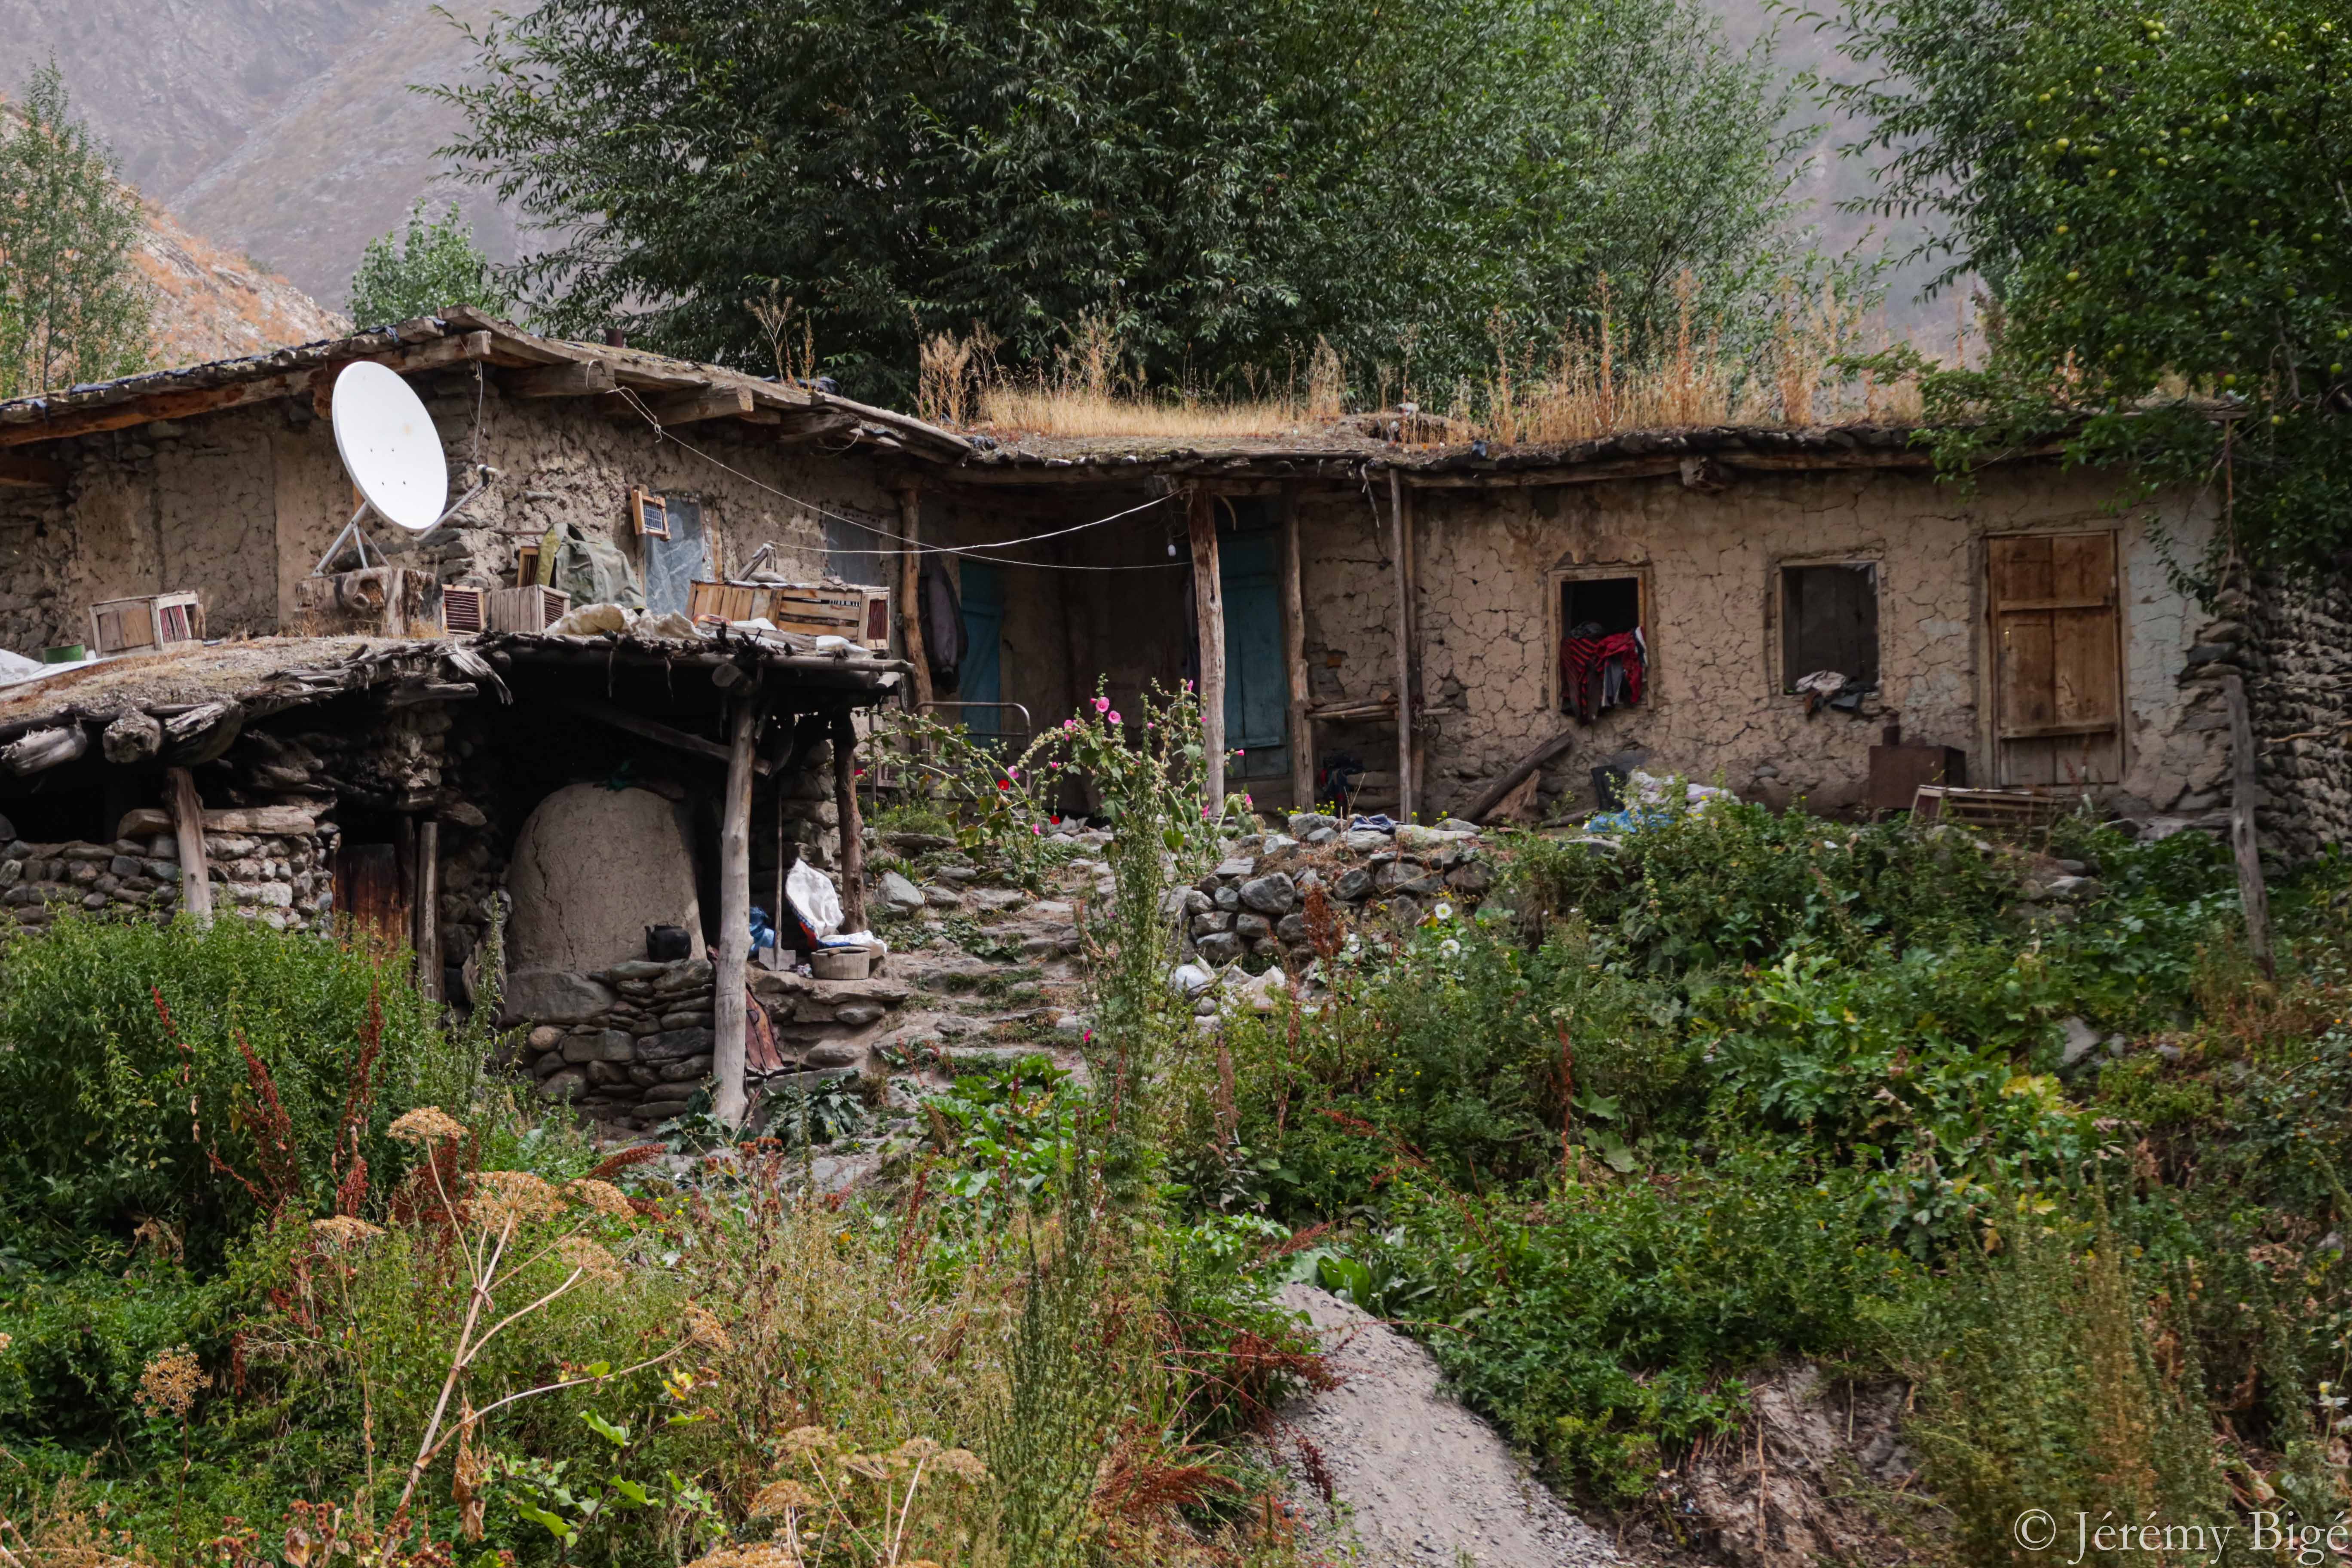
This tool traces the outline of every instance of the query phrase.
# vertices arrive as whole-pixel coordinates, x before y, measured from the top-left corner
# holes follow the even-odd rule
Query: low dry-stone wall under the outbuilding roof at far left
[[[325,929],[334,910],[334,827],[306,835],[207,832],[216,914],[242,914],[278,931]],[[113,844],[26,844],[0,849],[0,907],[21,926],[45,926],[59,910],[92,914],[179,912],[179,839],[169,832]]]

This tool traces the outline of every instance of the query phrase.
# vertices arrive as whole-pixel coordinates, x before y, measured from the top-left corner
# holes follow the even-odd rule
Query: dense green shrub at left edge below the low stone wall
[[[254,1128],[275,1121],[254,1105],[240,1044],[275,1084],[301,1201],[322,1213],[372,1006],[381,1034],[360,1154],[381,1182],[400,1168],[383,1138],[390,1119],[419,1103],[461,1105],[473,1084],[473,1063],[405,973],[346,943],[242,919],[198,931],[68,914],[47,931],[9,933],[0,943],[5,1246],[21,1265],[71,1265],[160,1220],[181,1234],[193,1267],[216,1262],[256,1204],[212,1152],[261,1182]]]

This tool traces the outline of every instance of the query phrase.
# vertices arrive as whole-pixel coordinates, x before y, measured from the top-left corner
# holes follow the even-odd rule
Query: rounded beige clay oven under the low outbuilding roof
[[[515,971],[612,969],[644,957],[647,926],[703,924],[680,809],[652,790],[555,790],[522,823],[506,886]]]

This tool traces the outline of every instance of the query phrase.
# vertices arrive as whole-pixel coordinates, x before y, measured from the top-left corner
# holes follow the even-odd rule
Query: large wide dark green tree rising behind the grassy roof
[[[543,0],[475,42],[447,153],[550,235],[550,322],[764,364],[776,284],[873,393],[1080,322],[1162,386],[1317,336],[1430,383],[1604,273],[1639,327],[1780,266],[1788,106],[1693,0]]]

